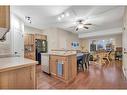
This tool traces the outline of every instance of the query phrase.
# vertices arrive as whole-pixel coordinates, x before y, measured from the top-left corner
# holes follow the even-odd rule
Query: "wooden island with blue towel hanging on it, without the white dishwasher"
[[[52,53],[50,54],[50,73],[65,83],[72,82],[77,75],[76,53]]]

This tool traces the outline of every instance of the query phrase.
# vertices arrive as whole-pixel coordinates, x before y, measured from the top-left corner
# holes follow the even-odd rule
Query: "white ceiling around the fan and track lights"
[[[84,19],[92,23],[88,30],[80,30],[79,34],[112,27],[122,26],[123,6],[12,6],[12,10],[25,22],[25,16],[32,18],[27,25],[39,29],[58,27],[74,32],[74,22]],[[58,21],[58,16],[68,12],[70,16]]]

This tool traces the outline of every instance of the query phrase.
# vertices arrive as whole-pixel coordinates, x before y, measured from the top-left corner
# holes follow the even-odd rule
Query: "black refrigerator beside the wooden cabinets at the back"
[[[41,64],[41,53],[47,52],[47,41],[36,39],[36,61]]]

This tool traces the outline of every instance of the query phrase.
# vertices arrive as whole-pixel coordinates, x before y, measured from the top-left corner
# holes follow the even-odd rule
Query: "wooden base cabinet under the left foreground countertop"
[[[35,66],[0,72],[0,89],[35,89]]]

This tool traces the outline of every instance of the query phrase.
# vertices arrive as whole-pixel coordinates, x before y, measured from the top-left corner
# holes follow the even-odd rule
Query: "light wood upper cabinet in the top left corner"
[[[10,6],[0,5],[0,28],[10,28]]]

